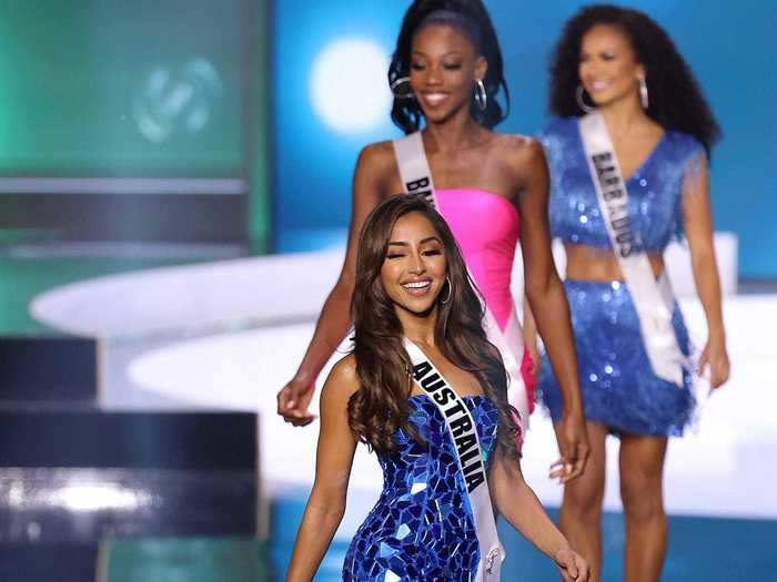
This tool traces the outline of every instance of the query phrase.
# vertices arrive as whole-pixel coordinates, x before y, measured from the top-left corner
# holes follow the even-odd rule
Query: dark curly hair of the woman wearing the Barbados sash
[[[646,113],[664,129],[696,137],[709,157],[720,137],[720,127],[675,43],[652,18],[637,10],[594,4],[582,8],[567,21],[551,65],[551,112],[565,118],[585,113],[575,100],[579,84],[577,67],[583,37],[596,24],[617,27],[628,37],[645,68],[650,95]]]

